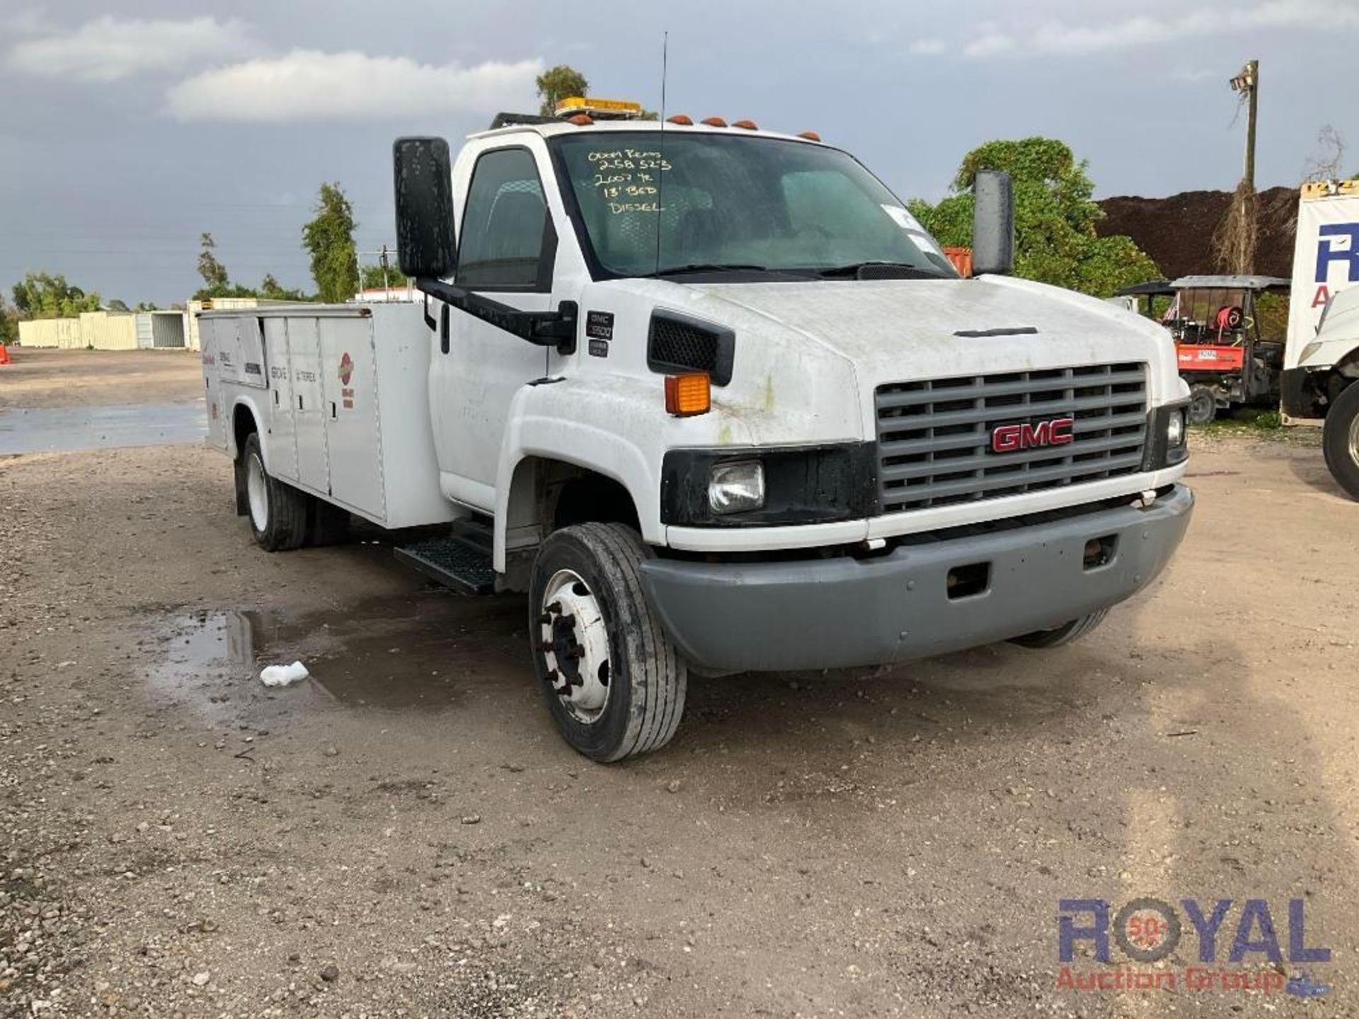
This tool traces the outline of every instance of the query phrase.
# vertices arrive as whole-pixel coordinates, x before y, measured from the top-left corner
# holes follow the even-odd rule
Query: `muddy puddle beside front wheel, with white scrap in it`
[[[212,724],[318,705],[444,711],[478,677],[527,667],[523,611],[516,598],[435,590],[298,620],[235,610],[171,617],[151,633],[160,660],[148,693]],[[307,679],[260,682],[265,666],[294,660]]]

